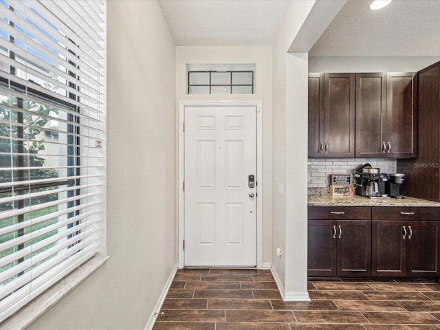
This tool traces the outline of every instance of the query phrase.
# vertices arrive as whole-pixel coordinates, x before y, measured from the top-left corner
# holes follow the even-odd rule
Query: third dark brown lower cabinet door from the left
[[[407,234],[406,221],[373,220],[371,234],[373,276],[406,275]]]

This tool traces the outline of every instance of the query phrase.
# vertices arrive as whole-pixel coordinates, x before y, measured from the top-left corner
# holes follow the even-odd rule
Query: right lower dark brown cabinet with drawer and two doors
[[[373,208],[371,274],[440,276],[438,213],[439,208]]]

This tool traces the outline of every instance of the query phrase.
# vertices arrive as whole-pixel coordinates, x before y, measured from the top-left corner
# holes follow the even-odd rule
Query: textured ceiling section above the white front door
[[[159,0],[176,45],[272,45],[290,1]]]

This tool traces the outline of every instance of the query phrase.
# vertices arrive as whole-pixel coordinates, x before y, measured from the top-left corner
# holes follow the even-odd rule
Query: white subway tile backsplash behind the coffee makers
[[[333,173],[355,173],[359,165],[369,163],[371,167],[380,168],[380,173],[396,173],[396,159],[388,158],[309,158],[309,188],[327,188],[330,186],[330,175]]]

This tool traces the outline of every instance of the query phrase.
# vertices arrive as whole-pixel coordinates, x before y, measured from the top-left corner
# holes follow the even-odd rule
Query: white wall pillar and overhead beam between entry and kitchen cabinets
[[[273,48],[272,266],[285,300],[308,299],[307,52],[344,3],[292,1]],[[276,248],[283,256],[275,255]]]

